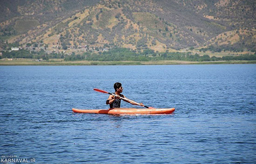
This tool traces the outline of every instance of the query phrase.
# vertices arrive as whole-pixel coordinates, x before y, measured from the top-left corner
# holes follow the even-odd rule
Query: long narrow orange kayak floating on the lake
[[[110,109],[72,109],[75,113],[96,113],[96,114],[170,114],[175,108],[110,108]]]

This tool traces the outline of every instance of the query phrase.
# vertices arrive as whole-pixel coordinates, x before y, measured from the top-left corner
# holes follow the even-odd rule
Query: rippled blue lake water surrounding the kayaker
[[[123,94],[169,115],[73,113]],[[121,102],[121,107],[139,107]],[[256,65],[0,66],[1,159],[36,164],[255,164]]]

